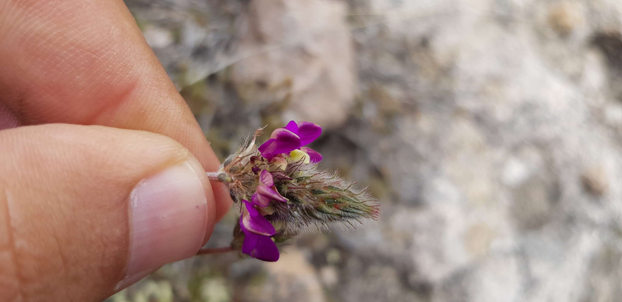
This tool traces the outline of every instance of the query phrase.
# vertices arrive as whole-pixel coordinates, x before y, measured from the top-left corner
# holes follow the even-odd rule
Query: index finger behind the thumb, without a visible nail
[[[157,132],[184,145],[206,171],[220,165],[121,0],[0,2],[0,91],[0,107],[18,124]],[[210,214],[220,219],[231,199],[220,183],[212,186]]]

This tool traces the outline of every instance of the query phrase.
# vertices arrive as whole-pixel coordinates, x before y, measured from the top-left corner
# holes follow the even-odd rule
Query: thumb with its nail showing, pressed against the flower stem
[[[175,140],[47,124],[0,131],[0,296],[96,301],[194,255],[209,181]]]

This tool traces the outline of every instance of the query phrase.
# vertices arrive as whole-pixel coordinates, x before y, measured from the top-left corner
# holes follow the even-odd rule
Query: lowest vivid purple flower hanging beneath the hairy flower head
[[[275,234],[274,227],[261,216],[253,203],[242,200],[246,211],[239,217],[239,226],[244,232],[242,252],[259,260],[274,262],[279,260],[279,249],[270,236]]]

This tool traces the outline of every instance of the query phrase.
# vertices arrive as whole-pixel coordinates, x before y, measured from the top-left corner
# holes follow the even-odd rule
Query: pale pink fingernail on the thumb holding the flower
[[[195,255],[207,223],[205,190],[188,162],[141,180],[129,203],[129,262],[118,288],[165,263]]]

